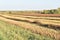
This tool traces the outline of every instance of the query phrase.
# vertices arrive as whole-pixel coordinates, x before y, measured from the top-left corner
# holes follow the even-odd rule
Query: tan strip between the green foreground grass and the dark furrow
[[[27,22],[7,19],[7,18],[1,17],[1,16],[0,16],[0,20],[6,21],[6,22],[11,23],[11,24],[18,25],[18,26],[23,27],[27,30],[30,30],[34,33],[45,35],[45,36],[47,35],[47,36],[50,36],[52,38],[55,38],[56,40],[60,40],[60,33],[57,32],[56,30],[48,29],[48,28],[41,27],[41,26],[31,24],[31,23],[27,23]]]

